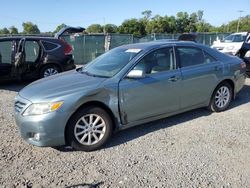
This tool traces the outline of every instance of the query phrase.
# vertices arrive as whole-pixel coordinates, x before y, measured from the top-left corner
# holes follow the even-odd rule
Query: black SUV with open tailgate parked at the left
[[[0,38],[0,80],[37,79],[74,69],[73,48],[62,35],[83,31],[65,27],[55,37]]]

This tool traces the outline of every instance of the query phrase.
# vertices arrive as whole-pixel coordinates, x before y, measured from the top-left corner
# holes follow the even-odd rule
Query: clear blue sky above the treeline
[[[65,23],[87,27],[93,23],[120,25],[125,19],[140,18],[141,12],[153,15],[189,14],[204,11],[204,19],[219,26],[250,14],[250,0],[2,0],[0,28],[14,25],[22,31],[22,23],[31,21],[40,31],[54,31]],[[240,13],[239,10],[244,12]]]

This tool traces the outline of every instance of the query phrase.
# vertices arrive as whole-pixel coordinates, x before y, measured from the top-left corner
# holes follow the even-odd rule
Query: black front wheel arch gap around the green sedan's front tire
[[[90,106],[99,107],[99,108],[102,108],[103,110],[105,110],[108,113],[108,115],[110,116],[110,118],[111,118],[111,121],[112,121],[112,130],[115,131],[118,128],[116,118],[115,118],[113,112],[111,111],[111,109],[106,104],[104,104],[104,103],[102,103],[100,101],[89,101],[89,102],[86,102],[86,103],[82,104],[81,106],[79,106],[77,108],[77,110],[68,119],[68,121],[66,123],[66,126],[65,126],[65,129],[64,129],[64,138],[65,138],[65,143],[66,144],[68,143],[66,132],[67,132],[67,129],[68,129],[68,126],[69,126],[69,122],[71,121],[71,118],[79,110],[81,110],[82,108],[87,108],[87,107],[90,107]]]

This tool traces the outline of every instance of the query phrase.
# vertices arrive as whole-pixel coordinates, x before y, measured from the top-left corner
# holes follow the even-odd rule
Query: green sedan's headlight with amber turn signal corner
[[[30,105],[23,113],[23,116],[42,115],[58,110],[63,101],[52,103],[34,103]]]

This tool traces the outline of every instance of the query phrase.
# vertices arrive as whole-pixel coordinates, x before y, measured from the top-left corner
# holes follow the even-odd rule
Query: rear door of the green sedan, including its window
[[[182,82],[181,108],[205,104],[222,74],[223,64],[197,47],[176,47]]]

